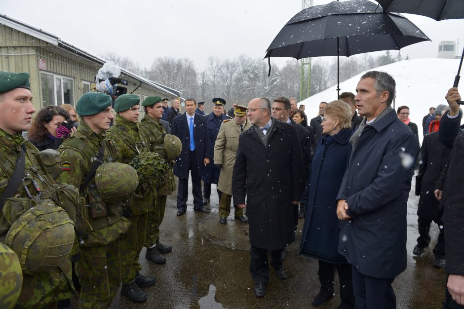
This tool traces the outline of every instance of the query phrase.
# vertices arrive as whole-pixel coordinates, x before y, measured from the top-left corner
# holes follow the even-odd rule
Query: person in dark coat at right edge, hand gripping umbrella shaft
[[[445,98],[451,110],[442,117],[439,136],[453,150],[442,195],[448,273],[443,308],[464,308],[464,134],[460,128],[463,113],[457,102],[461,100],[457,87],[448,90]]]

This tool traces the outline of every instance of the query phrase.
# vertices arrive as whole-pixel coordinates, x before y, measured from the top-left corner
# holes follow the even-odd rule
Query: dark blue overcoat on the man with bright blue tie
[[[189,177],[189,153],[190,153],[190,130],[187,124],[186,114],[175,116],[172,120],[171,134],[177,136],[182,142],[182,152],[176,158],[174,165],[174,175],[181,178]],[[205,117],[195,114],[193,118],[193,139],[195,140],[195,156],[196,164],[198,165],[199,175],[206,172],[205,165],[203,164],[204,158],[212,159],[206,145],[209,144],[209,134],[206,129]]]

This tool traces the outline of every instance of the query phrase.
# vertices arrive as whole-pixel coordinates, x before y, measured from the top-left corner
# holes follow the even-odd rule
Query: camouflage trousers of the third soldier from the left
[[[147,213],[130,216],[130,227],[119,237],[121,244],[121,280],[129,284],[135,280],[135,272],[142,270],[139,255],[145,243]]]

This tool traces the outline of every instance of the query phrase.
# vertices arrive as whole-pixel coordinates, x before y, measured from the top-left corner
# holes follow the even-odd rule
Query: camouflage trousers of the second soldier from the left
[[[79,309],[110,307],[121,285],[119,239],[96,247],[80,247],[77,276],[82,285]]]

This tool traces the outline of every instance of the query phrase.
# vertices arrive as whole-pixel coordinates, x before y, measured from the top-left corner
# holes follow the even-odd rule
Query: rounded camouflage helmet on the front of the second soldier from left
[[[139,177],[132,166],[109,162],[97,168],[95,184],[105,202],[116,203],[135,192],[139,185]]]

